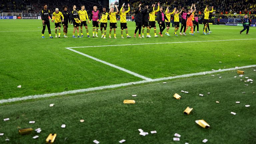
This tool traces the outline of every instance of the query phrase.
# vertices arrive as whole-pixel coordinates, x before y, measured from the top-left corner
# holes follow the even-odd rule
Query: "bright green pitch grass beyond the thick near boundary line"
[[[7,29],[9,25],[12,29]],[[128,22],[129,34],[133,36],[135,23]],[[119,25],[119,22],[118,22]],[[163,38],[71,38],[72,27],[69,25],[69,38],[41,38],[40,20],[1,20],[0,23],[0,99],[23,97],[76,90],[97,86],[140,81],[141,78],[122,72],[85,56],[74,53],[65,47],[94,45],[138,44],[159,42],[208,41],[225,39],[255,38],[254,27],[250,35],[239,34],[242,27],[211,25],[210,35],[171,36]],[[92,25],[89,32],[92,36]],[[38,28],[39,27],[39,28]],[[54,23],[51,23],[54,36]],[[9,32],[6,32],[9,31]],[[14,32],[11,32],[14,31]],[[107,28],[108,37],[109,28]],[[159,32],[159,30],[157,30]],[[63,32],[62,32],[63,33]],[[85,28],[83,33],[86,34]],[[150,32],[154,35],[153,29]],[[101,33],[99,32],[99,36]],[[125,33],[124,33],[125,36]],[[113,37],[113,32],[112,32]],[[101,60],[124,67],[149,78],[160,78],[188,74],[211,69],[231,68],[255,64],[253,48],[256,40],[198,42],[177,44],[151,44],[135,46],[106,46],[94,48],[75,48],[75,50],[95,56]],[[224,55],[223,55],[224,54]],[[238,57],[240,55],[240,57]],[[222,63],[219,63],[222,61]],[[22,85],[21,89],[17,86]]]

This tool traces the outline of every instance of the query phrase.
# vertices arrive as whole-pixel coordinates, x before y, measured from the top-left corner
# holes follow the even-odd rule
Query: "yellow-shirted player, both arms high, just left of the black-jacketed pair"
[[[124,32],[124,29],[125,29],[125,32],[126,32],[126,37],[127,38],[130,38],[129,34],[128,34],[128,28],[127,28],[127,23],[126,23],[126,14],[130,11],[130,4],[128,4],[128,10],[125,11],[125,8],[124,8],[124,4],[122,5],[121,9],[120,9],[120,27],[121,27],[121,38],[124,38],[123,37],[123,32]]]

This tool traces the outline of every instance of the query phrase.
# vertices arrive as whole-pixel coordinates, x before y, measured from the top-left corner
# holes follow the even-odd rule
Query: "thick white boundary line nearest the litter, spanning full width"
[[[137,82],[122,83],[122,84],[108,85],[108,86],[101,86],[101,87],[94,87],[94,88],[87,88],[87,89],[71,90],[71,91],[64,91],[64,92],[59,92],[59,93],[50,93],[50,94],[43,94],[43,95],[31,95],[31,96],[25,96],[25,97],[21,97],[21,98],[3,99],[3,100],[0,100],[0,104],[8,103],[8,102],[15,102],[15,101],[22,101],[22,100],[29,100],[29,99],[60,96],[60,95],[66,95],[66,94],[75,94],[75,93],[81,93],[81,92],[87,92],[87,91],[117,88],[117,87],[129,86],[129,85],[135,85],[135,84],[142,84],[142,83],[156,82],[156,81],[162,81],[162,80],[170,80],[170,79],[175,79],[175,78],[184,78],[184,77],[203,75],[204,73],[205,74],[211,74],[211,73],[224,72],[224,71],[250,68],[250,67],[256,67],[256,65],[242,66],[242,67],[238,67],[238,68],[229,68],[229,69],[222,69],[222,70],[215,70],[215,71],[206,71],[206,72],[179,75],[179,76],[174,76],[174,77],[164,77],[164,78],[157,78],[157,79],[143,80],[143,81],[137,81]]]

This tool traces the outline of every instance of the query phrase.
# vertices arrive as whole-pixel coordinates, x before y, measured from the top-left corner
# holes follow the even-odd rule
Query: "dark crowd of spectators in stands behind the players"
[[[151,6],[157,3],[156,0],[122,0],[122,2],[130,3],[131,11],[128,15],[132,15],[133,11],[140,3],[144,6]],[[192,3],[196,4],[196,9],[199,14],[203,14],[206,5],[214,6],[216,14],[221,14],[221,18],[231,17],[227,14],[256,14],[256,1],[254,0],[161,0],[161,6],[169,6],[169,9],[182,7],[188,9]],[[69,11],[72,10],[72,5],[76,5],[80,9],[80,5],[85,5],[85,10],[92,11],[93,6],[98,6],[102,10],[103,6],[100,5],[99,0],[0,0],[0,12],[22,12],[22,13],[39,13],[43,8],[43,4],[47,4],[48,9],[55,10],[59,8],[62,10],[64,5],[68,6]],[[28,9],[30,6],[31,9]],[[119,4],[119,7],[121,4]],[[232,16],[236,17],[236,16]]]

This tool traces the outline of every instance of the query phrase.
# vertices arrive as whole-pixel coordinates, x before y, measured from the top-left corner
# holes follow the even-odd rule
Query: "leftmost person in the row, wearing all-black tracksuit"
[[[52,19],[50,10],[47,9],[47,4],[44,4],[44,9],[41,11],[41,19],[42,19],[42,22],[43,22],[42,38],[44,38],[44,31],[45,31],[45,27],[46,27],[45,25],[47,25],[50,38],[53,38],[51,36],[49,16]]]

